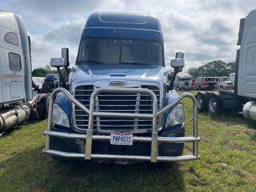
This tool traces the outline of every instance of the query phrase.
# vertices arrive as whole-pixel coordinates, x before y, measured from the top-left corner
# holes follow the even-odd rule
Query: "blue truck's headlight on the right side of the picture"
[[[165,127],[174,126],[184,122],[184,108],[180,103],[178,104],[172,112],[167,117]]]

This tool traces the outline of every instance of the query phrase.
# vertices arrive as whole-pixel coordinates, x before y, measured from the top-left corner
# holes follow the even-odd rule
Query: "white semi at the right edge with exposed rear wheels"
[[[234,73],[234,90],[220,92],[198,92],[200,111],[221,114],[225,109],[235,110],[247,119],[256,121],[256,10],[240,19]]]

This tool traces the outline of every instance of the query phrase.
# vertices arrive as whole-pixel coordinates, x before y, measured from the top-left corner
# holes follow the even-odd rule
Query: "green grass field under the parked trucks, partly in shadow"
[[[183,103],[190,136],[192,104]],[[237,114],[198,122],[200,160],[116,165],[52,160],[41,152],[47,121],[30,121],[0,138],[0,191],[255,191],[256,124]]]

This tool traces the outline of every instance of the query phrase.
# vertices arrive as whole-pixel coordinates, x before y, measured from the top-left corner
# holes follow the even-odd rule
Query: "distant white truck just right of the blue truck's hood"
[[[174,87],[179,90],[190,90],[193,76],[188,73],[178,73],[175,77]]]

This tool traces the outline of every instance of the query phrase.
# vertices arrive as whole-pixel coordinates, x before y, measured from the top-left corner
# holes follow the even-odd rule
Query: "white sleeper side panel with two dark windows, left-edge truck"
[[[24,57],[19,33],[0,27],[0,37],[2,101],[24,100]]]

